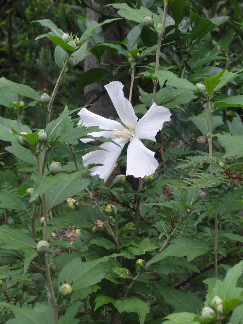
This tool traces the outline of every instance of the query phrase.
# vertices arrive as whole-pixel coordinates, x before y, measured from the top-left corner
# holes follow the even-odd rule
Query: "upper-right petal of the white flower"
[[[155,135],[162,129],[165,121],[170,120],[170,110],[153,103],[135,127],[136,136],[155,141]]]

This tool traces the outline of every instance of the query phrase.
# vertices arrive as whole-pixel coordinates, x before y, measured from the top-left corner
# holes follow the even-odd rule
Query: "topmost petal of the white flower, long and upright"
[[[113,81],[104,87],[107,90],[121,121],[129,128],[134,129],[138,117],[135,115],[133,106],[129,100],[124,97],[124,92],[122,91],[124,85],[119,81]]]

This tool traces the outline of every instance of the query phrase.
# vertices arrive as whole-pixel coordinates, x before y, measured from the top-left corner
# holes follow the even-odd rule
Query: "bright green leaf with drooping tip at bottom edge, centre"
[[[117,299],[115,301],[115,307],[119,313],[137,313],[139,315],[140,324],[144,324],[146,314],[150,311],[149,305],[138,297]]]

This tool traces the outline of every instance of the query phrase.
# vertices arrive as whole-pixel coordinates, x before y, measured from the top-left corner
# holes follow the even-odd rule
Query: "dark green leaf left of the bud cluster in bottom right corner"
[[[158,291],[166,303],[174,307],[176,313],[191,312],[197,313],[201,310],[203,301],[197,294],[187,291],[179,291],[170,286],[158,285]]]

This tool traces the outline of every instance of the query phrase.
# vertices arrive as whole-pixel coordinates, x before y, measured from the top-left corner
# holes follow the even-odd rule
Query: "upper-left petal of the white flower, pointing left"
[[[99,128],[107,130],[124,129],[124,127],[119,122],[96,115],[91,111],[88,111],[86,108],[82,108],[78,115],[81,117],[81,120],[79,121],[78,125],[80,125],[83,122],[83,125],[85,127],[99,126]]]

